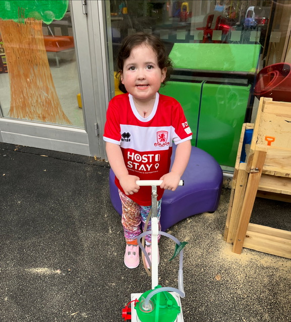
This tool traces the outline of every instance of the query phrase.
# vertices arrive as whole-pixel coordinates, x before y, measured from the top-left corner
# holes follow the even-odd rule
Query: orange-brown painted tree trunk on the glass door
[[[44,47],[41,21],[0,20],[10,77],[12,118],[71,124],[57,97]]]

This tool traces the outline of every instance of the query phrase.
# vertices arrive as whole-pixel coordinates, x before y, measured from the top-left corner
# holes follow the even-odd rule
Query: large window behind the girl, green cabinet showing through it
[[[160,37],[174,65],[160,94],[181,103],[194,133],[192,145],[212,154],[222,168],[234,167],[242,124],[256,115],[258,71],[291,60],[291,5],[265,0],[109,4],[110,74],[117,72],[124,37],[141,31]],[[117,79],[114,84],[115,95],[121,94]]]

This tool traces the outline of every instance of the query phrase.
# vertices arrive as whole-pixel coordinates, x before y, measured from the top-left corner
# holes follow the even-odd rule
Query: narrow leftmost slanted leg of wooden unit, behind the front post
[[[226,242],[231,244],[234,243],[235,236],[237,233],[242,206],[244,202],[245,191],[248,182],[249,174],[246,172],[246,166],[247,165],[245,163],[241,163],[240,169],[238,171],[237,186],[235,190],[234,201],[231,208],[228,234],[226,239]]]

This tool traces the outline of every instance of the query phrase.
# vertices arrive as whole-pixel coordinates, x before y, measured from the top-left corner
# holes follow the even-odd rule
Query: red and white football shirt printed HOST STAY
[[[175,99],[156,94],[151,114],[139,115],[130,94],[113,97],[109,102],[104,141],[121,147],[130,175],[140,180],[159,180],[169,172],[172,141],[175,144],[192,139],[183,109]],[[115,184],[123,191],[119,180]],[[163,189],[158,187],[158,200]],[[151,187],[140,187],[128,196],[141,206],[151,205]]]

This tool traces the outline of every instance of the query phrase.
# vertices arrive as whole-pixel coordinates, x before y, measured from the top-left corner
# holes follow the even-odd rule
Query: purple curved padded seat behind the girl
[[[171,162],[175,151],[176,147],[173,146]],[[114,178],[110,169],[110,199],[114,209],[121,215],[122,205]],[[181,179],[184,180],[184,186],[178,187],[176,191],[165,190],[163,194],[160,218],[162,231],[180,220],[203,212],[213,212],[218,207],[223,174],[210,154],[192,146],[189,164]]]

